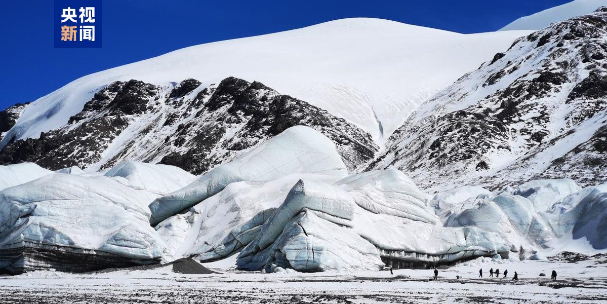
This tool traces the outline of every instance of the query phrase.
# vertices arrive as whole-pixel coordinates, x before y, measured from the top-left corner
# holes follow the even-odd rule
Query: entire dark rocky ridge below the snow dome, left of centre
[[[202,174],[294,125],[333,140],[350,170],[378,151],[355,125],[259,82],[229,77],[200,88],[187,79],[167,88],[130,80],[101,89],[66,126],[8,143],[0,164],[103,169],[131,159]]]

